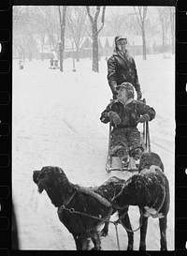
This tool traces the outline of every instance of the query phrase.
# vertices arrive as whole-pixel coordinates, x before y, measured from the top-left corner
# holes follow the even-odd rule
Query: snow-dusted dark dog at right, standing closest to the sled
[[[130,177],[122,191],[114,198],[113,207],[123,209],[138,205],[141,228],[139,250],[146,250],[148,218],[159,218],[161,250],[166,250],[166,219],[169,210],[169,184],[161,158],[155,153],[145,153],[140,158],[139,173]]]

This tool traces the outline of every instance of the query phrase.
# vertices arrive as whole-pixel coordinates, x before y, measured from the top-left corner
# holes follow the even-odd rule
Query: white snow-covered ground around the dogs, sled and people
[[[156,110],[150,123],[151,150],[165,164],[171,203],[168,213],[168,249],[174,249],[174,146],[175,84],[174,57],[148,55],[136,57],[143,97]],[[107,64],[100,62],[100,72],[91,71],[90,59],[64,63],[64,72],[49,69],[50,61],[25,62],[24,69],[13,62],[13,200],[18,216],[22,249],[75,250],[72,235],[58,219],[57,209],[46,192],[37,193],[33,171],[46,165],[64,169],[68,179],[82,186],[97,186],[109,176],[127,178],[130,174],[106,173],[108,125],[99,120],[111,97],[107,82]],[[140,127],[139,127],[140,128]],[[115,217],[113,217],[114,219]],[[137,207],[130,208],[133,228],[138,226]],[[127,247],[127,235],[119,225],[121,249]],[[158,219],[149,218],[147,249],[160,248]],[[139,231],[135,233],[138,249]],[[114,226],[102,238],[103,250],[116,250]]]

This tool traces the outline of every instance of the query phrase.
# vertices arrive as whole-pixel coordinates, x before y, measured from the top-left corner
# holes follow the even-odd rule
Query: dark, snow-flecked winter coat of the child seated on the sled
[[[124,105],[120,100],[114,99],[108,104],[106,110],[101,113],[100,120],[107,124],[109,120],[108,112],[113,111],[118,113],[122,123],[117,126],[117,128],[137,128],[137,120],[143,114],[149,114],[150,121],[155,117],[156,112],[149,105],[142,103],[136,99],[126,105]],[[111,125],[114,127],[113,122]]]

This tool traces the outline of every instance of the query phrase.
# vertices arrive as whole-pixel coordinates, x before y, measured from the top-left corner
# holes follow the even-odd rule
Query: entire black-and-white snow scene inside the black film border
[[[12,248],[175,249],[175,12],[12,7]]]

